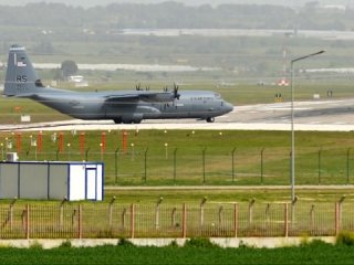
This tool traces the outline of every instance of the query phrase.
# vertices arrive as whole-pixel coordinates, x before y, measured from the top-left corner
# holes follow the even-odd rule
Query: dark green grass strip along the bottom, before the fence
[[[320,241],[299,247],[219,248],[210,245],[185,247],[98,247],[1,248],[1,264],[352,264],[352,246]]]

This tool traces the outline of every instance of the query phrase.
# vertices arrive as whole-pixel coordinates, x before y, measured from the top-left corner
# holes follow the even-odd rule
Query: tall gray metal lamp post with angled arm
[[[290,85],[291,85],[291,201],[295,200],[295,131],[294,131],[294,63],[301,60],[305,60],[325,51],[319,51],[304,56],[295,57],[291,60],[290,64]]]

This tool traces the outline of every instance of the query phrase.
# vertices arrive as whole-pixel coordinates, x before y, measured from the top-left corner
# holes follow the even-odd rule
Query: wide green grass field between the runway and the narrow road
[[[85,132],[83,146],[82,132]],[[100,147],[102,132],[106,142],[104,152]],[[61,152],[60,132],[55,132],[54,142],[53,131],[42,132],[41,149],[30,145],[31,136],[38,139],[38,131],[1,132],[0,142],[3,155],[18,151],[20,160],[103,160],[106,184],[289,184],[289,132],[228,130],[222,131],[222,136],[219,132],[128,130],[124,148],[122,130],[64,131]],[[298,131],[296,184],[353,183],[352,135],[351,131]],[[12,142],[12,149],[7,149],[7,141]]]

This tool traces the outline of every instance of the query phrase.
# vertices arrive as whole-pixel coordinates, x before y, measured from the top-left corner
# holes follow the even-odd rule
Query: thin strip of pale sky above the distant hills
[[[137,3],[157,3],[170,0],[0,0],[0,4],[6,6],[24,6],[28,2],[62,2],[69,6],[81,6],[90,8],[94,6],[106,6],[108,3],[122,3],[122,2],[137,2]],[[313,2],[315,0],[174,0],[183,2],[188,6],[211,4],[218,6],[221,3],[258,3],[258,4],[281,4],[281,6],[303,6],[306,2]],[[316,0],[322,4],[351,4],[354,6],[354,0]]]

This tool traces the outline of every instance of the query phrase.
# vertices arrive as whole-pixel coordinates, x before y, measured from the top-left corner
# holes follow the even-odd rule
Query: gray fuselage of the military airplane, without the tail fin
[[[115,123],[140,123],[143,119],[196,118],[214,121],[216,116],[229,113],[232,105],[218,93],[185,91],[169,100],[142,100],[134,96],[142,92],[71,92],[44,88],[30,98],[80,119],[113,119]],[[106,100],[119,97],[124,100]]]

